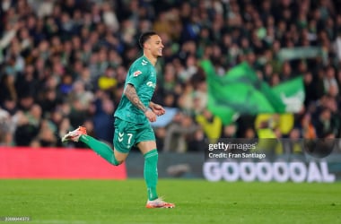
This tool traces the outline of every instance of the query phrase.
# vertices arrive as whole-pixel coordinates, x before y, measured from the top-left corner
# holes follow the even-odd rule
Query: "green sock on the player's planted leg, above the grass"
[[[158,198],[158,195],[156,194],[158,158],[159,154],[156,149],[144,154],[144,180],[147,185],[149,201],[153,201]]]

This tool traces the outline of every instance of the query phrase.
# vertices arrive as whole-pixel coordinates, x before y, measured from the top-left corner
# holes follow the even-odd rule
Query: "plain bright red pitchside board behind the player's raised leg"
[[[0,147],[0,178],[127,179],[91,150]]]

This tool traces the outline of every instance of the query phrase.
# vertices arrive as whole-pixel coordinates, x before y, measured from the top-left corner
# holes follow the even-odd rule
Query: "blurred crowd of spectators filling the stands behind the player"
[[[201,59],[218,75],[246,60],[271,86],[303,75],[305,107],[293,130],[271,129],[277,137],[340,137],[340,8],[331,0],[3,0],[0,144],[82,148],[60,142],[78,125],[111,142],[112,114],[145,30],[165,46],[153,101],[179,108],[155,128],[160,151],[201,151],[205,137],[258,136],[254,116],[223,125],[206,109]],[[321,47],[327,60],[276,58],[283,47],[307,46]]]

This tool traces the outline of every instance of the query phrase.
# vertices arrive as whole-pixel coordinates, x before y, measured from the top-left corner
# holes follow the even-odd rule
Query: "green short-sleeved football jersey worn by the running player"
[[[125,88],[128,83],[134,85],[138,98],[148,108],[156,86],[156,70],[145,56],[137,58],[130,66]],[[124,94],[119,101],[114,116],[138,124],[147,122],[147,117],[144,116],[144,112],[136,108]]]

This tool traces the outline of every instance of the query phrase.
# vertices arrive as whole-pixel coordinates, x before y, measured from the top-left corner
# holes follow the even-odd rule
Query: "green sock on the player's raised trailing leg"
[[[89,135],[82,134],[79,141],[87,144],[93,151],[99,154],[103,159],[106,159],[112,165],[118,166],[118,160],[115,158],[114,151],[106,143],[100,142]]]

